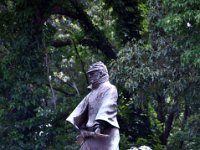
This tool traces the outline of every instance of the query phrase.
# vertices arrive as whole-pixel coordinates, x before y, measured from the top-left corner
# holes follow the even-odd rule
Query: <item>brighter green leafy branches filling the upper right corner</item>
[[[184,49],[182,59],[187,64],[199,67],[199,1],[170,1],[163,2],[166,15],[159,22],[167,33],[174,33],[176,43]]]

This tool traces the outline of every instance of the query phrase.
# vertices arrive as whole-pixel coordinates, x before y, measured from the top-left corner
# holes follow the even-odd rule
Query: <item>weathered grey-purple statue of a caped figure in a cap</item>
[[[80,130],[80,150],[119,150],[117,89],[102,62],[91,65],[87,74],[91,92],[66,120]]]

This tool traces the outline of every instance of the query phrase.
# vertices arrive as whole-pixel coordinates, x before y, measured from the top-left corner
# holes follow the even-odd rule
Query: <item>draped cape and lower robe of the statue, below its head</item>
[[[85,138],[80,150],[118,150],[119,125],[117,122],[117,89],[109,81],[101,83],[78,104],[66,119],[77,129],[91,128],[98,121],[109,126],[101,132],[108,137]]]

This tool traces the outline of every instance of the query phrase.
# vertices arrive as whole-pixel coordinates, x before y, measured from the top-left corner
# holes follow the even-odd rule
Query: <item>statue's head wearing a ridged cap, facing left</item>
[[[92,64],[87,74],[89,82],[92,85],[103,83],[109,78],[107,67],[101,61]]]

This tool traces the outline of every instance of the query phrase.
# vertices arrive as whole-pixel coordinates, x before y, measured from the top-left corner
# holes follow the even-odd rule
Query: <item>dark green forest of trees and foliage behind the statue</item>
[[[120,150],[200,149],[200,1],[0,0],[0,149],[76,150],[66,117],[103,61]]]

